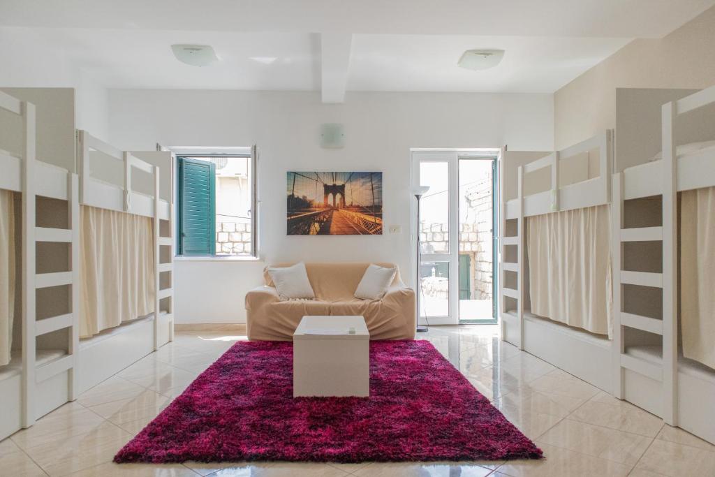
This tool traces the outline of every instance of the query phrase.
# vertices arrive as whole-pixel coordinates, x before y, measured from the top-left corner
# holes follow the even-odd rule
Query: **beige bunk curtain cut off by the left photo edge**
[[[13,195],[0,190],[0,366],[10,362],[15,308],[15,212]]]

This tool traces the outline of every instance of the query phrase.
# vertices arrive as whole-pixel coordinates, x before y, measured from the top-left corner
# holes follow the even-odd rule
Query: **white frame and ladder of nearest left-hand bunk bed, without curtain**
[[[21,157],[0,153],[0,189],[22,196],[22,367],[21,375],[0,381],[0,439],[79,394],[79,186],[77,174],[36,160],[34,104],[0,92],[0,107],[21,117]],[[68,202],[67,229],[36,226],[36,197]],[[64,242],[70,247],[69,270],[36,273],[36,243]],[[70,285],[69,313],[37,320],[36,290]],[[67,353],[45,363],[36,358],[36,339],[69,328]]]

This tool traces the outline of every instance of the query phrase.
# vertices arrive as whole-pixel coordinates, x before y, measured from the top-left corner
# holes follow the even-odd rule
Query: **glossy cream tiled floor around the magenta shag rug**
[[[715,446],[611,398],[495,337],[492,326],[432,328],[432,341],[543,461],[467,463],[112,463],[124,443],[242,336],[177,333],[174,343],[0,442],[3,476],[715,476]]]

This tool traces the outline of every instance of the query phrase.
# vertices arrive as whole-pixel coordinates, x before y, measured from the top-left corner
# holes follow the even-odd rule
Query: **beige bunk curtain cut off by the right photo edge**
[[[715,187],[683,192],[680,222],[683,355],[715,368]]]

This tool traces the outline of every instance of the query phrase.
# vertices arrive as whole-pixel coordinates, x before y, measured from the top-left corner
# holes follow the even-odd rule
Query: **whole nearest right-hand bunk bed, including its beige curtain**
[[[694,139],[698,128],[712,134],[714,107],[715,87],[664,104],[661,153],[613,176],[613,395],[711,443],[715,316],[707,301],[699,305],[698,300],[711,300],[712,282],[707,280],[712,270],[698,267],[711,266],[703,261],[714,245],[696,240],[694,224],[695,195],[700,194],[710,200],[700,211],[701,225],[712,222],[715,147],[685,142]],[[633,223],[636,215],[651,220]],[[633,257],[638,252],[628,248],[632,242],[641,250],[654,244],[655,253]],[[706,280],[709,288],[701,287],[700,296],[698,280]],[[662,303],[647,300],[652,290]],[[657,305],[647,307],[644,301]]]

